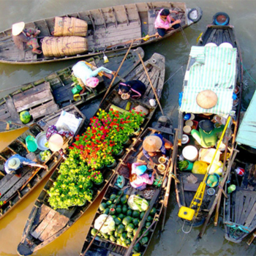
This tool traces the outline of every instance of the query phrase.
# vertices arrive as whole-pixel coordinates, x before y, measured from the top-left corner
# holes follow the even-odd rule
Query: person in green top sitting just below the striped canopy
[[[191,135],[197,143],[203,148],[211,148],[215,146],[218,140],[219,134],[223,131],[224,125],[220,125],[218,128],[214,127],[214,123],[210,120],[202,120],[198,124],[199,132],[196,129],[192,129]]]

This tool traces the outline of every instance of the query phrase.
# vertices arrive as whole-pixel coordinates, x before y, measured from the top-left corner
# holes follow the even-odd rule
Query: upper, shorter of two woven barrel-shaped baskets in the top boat
[[[87,29],[88,24],[86,20],[80,20],[74,17],[56,17],[52,34],[54,37],[86,37]]]

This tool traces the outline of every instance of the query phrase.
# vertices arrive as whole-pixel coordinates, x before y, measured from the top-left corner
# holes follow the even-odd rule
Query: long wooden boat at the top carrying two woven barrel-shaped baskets
[[[26,51],[18,50],[12,41],[12,30],[7,29],[0,34],[0,61],[8,64],[47,63],[95,56],[103,51],[108,53],[114,48],[124,49],[129,46],[133,39],[138,39],[134,43],[135,46],[156,42],[160,38],[152,37],[156,34],[154,20],[157,17],[158,11],[162,8],[176,10],[178,14],[175,15],[174,18],[181,19],[183,29],[196,23],[202,17],[200,8],[190,10],[187,9],[186,4],[184,3],[168,1],[124,4],[115,7],[75,12],[61,17],[73,17],[80,20],[86,20],[88,23],[86,36],[88,52],[62,57],[45,57],[43,54],[39,56],[33,55],[31,49],[26,49]],[[41,46],[43,38],[52,37],[54,26],[55,18],[53,17],[26,23],[25,27],[37,28],[41,31],[38,37],[39,45]],[[170,31],[165,37],[170,37],[173,33],[179,30],[180,29]],[[148,41],[140,39],[146,35],[151,37]],[[65,50],[66,48],[70,47],[64,45],[62,50]]]

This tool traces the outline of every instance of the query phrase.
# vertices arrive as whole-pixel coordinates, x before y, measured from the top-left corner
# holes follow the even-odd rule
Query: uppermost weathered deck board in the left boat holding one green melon
[[[53,95],[50,93],[50,90],[42,91],[42,92],[39,92],[39,94],[35,95],[33,99],[34,99],[33,102],[29,102],[29,99],[24,99],[24,103],[22,103],[23,101],[18,102],[19,106],[16,107],[17,111],[20,112],[20,111],[35,107],[37,105],[40,105],[43,102],[48,102],[51,99],[53,99]]]

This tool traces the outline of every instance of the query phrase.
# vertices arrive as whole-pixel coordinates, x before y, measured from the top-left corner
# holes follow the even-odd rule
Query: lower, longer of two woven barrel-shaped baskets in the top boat
[[[85,53],[88,42],[84,37],[45,37],[42,39],[42,53],[45,57],[71,56]]]

